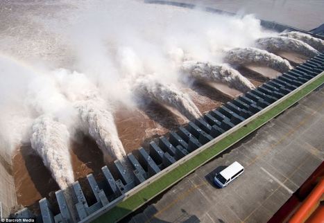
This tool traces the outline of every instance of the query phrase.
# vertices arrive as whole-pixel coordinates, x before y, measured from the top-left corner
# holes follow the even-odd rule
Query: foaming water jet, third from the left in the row
[[[162,84],[152,77],[144,76],[137,78],[134,90],[139,97],[150,98],[157,103],[177,109],[189,120],[201,116],[201,112],[189,96],[179,91],[173,84]]]

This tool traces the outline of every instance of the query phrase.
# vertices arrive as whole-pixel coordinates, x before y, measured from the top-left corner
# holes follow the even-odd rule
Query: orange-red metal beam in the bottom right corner
[[[296,211],[296,213],[291,217],[289,220],[290,223],[300,223],[300,222],[305,222],[310,215],[316,210],[318,207],[319,203],[321,202],[321,199],[323,199],[323,194],[324,194],[324,179],[321,179],[321,181],[318,182],[317,186],[312,190],[312,193],[310,193],[305,200],[305,202],[302,203],[300,208]],[[317,213],[314,213],[313,217],[322,217],[323,216],[323,209],[322,207],[319,207],[320,209]],[[317,218],[315,219],[315,222],[321,222],[323,221],[323,218]],[[310,220],[310,219],[309,219]]]

